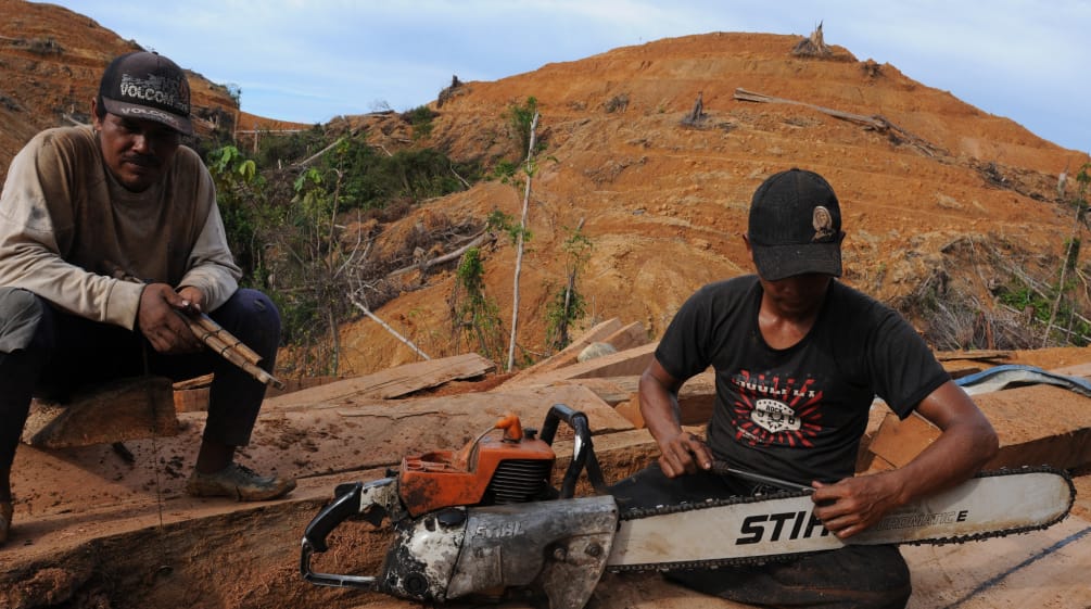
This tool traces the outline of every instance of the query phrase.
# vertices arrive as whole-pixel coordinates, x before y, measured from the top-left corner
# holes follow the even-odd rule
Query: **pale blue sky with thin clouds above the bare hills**
[[[1091,150],[1091,0],[55,0],[268,118],[326,122],[451,83],[709,32],[807,35]]]

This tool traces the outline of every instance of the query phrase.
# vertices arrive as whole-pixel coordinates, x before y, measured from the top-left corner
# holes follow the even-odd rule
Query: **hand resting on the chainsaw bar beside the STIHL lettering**
[[[814,515],[840,539],[847,539],[879,522],[898,505],[901,486],[895,476],[876,474],[846,478],[837,483],[815,481]]]

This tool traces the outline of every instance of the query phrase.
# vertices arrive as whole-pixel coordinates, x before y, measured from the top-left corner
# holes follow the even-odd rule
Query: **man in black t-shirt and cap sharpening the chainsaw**
[[[814,489],[814,515],[849,538],[914,499],[957,485],[997,451],[988,420],[897,312],[841,284],[841,212],[813,171],[779,172],[754,193],[744,235],[757,275],[700,288],[640,377],[658,464],[612,489],[625,507],[776,490],[710,471],[714,462]],[[707,439],[683,431],[678,392],[712,367]],[[875,396],[943,433],[900,469],[854,477]],[[777,607],[904,607],[897,547],[843,549],[764,565],[671,572],[695,589]]]

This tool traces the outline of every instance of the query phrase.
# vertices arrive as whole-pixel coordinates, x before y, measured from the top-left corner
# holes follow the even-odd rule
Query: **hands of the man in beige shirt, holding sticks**
[[[197,307],[203,296],[195,288],[182,288],[191,294],[183,296],[167,284],[148,284],[140,297],[136,324],[155,350],[161,354],[199,351],[204,344],[193,334],[185,320],[178,314]],[[192,291],[197,291],[194,299]]]

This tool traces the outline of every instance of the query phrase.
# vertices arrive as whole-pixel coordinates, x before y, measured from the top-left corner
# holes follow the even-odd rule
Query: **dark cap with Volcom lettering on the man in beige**
[[[193,134],[190,83],[182,69],[166,57],[136,51],[116,58],[103,73],[98,96],[111,115],[154,120]]]

